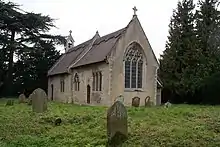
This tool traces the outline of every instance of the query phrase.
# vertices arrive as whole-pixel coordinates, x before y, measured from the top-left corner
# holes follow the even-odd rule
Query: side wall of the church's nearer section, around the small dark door
[[[101,71],[102,73],[102,87],[101,91],[93,91],[93,72]],[[72,89],[73,100],[76,103],[87,104],[87,86],[91,87],[90,101],[91,105],[109,105],[109,68],[106,63],[97,63],[74,69],[72,75],[78,74],[80,79],[80,90]]]

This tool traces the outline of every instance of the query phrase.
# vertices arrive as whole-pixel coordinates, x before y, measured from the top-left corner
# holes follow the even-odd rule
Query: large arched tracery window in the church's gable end
[[[125,54],[125,88],[142,88],[143,53],[137,43],[132,43]]]

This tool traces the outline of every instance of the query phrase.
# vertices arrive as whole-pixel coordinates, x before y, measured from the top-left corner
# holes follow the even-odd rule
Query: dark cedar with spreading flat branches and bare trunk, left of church
[[[7,63],[7,76],[4,81],[6,89],[3,91],[7,95],[12,94],[15,55],[20,56],[25,50],[33,49],[33,44],[42,39],[63,42],[62,36],[47,34],[51,27],[55,26],[49,16],[25,12],[12,2],[0,1],[0,38],[4,38],[3,46],[7,57],[4,62]]]

